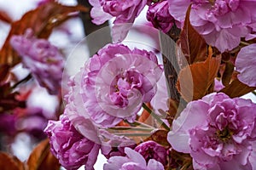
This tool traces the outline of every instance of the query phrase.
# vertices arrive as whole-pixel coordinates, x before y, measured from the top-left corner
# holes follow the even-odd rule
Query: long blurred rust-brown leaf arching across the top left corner
[[[82,6],[64,6],[60,3],[50,2],[39,6],[23,15],[23,17],[12,23],[9,36],[0,51],[0,64],[14,66],[20,62],[18,54],[9,44],[13,35],[22,35],[27,28],[31,28],[40,38],[48,38],[55,26],[61,25],[67,19],[73,17],[74,12],[88,12],[88,8]]]

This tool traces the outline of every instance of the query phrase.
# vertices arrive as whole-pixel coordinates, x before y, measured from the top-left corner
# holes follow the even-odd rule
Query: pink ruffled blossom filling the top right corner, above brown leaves
[[[192,3],[190,22],[208,44],[220,52],[236,48],[255,23],[255,1],[247,0],[168,0],[170,14],[183,23]]]

